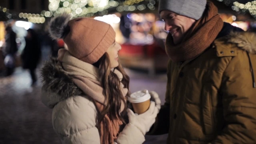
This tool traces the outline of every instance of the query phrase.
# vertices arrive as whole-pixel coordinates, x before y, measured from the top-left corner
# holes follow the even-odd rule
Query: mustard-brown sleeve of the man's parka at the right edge
[[[243,59],[234,57],[223,73],[221,93],[225,127],[212,144],[256,143],[256,88],[253,88],[249,66],[241,61]]]

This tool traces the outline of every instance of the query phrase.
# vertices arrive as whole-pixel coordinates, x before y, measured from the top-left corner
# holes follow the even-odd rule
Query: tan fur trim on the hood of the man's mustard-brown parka
[[[228,43],[234,43],[240,49],[256,54],[256,34],[250,32],[232,32],[229,35]]]

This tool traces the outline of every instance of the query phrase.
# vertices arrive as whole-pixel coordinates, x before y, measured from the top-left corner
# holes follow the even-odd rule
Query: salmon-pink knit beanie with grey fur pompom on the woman
[[[77,59],[93,64],[115,42],[115,31],[107,23],[92,18],[76,18],[63,13],[55,16],[49,24],[53,39],[63,39],[70,54]]]

